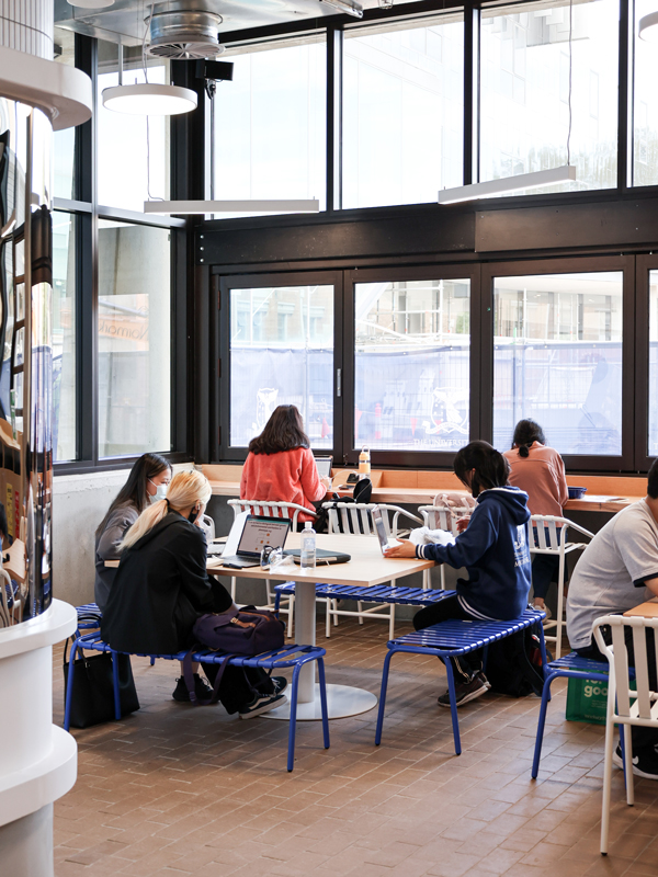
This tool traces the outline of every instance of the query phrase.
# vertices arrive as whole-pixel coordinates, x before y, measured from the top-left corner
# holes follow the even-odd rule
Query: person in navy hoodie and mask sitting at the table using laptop
[[[508,482],[510,466],[488,442],[470,442],[455,456],[454,471],[476,499],[468,525],[454,545],[413,545],[402,539],[386,557],[419,557],[466,567],[468,579],[457,580],[457,593],[413,618],[422,630],[449,618],[509,620],[527,606],[531,563],[527,545],[527,493]],[[457,706],[490,688],[483,673],[481,650],[451,659]],[[447,692],[439,706],[450,707]]]

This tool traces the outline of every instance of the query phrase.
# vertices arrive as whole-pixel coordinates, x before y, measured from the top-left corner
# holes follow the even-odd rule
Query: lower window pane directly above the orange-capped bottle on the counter
[[[359,283],[354,309],[354,447],[467,444],[469,281]]]

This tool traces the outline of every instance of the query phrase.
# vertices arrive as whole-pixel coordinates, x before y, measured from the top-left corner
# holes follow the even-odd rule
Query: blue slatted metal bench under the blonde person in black
[[[118,721],[121,719],[121,699],[118,686],[118,662],[114,660],[114,656],[118,652],[110,648],[106,642],[103,642],[99,631],[83,634],[73,641],[71,647],[71,654],[69,659],[68,683],[66,694],[66,707],[64,713],[64,729],[69,730],[70,727],[70,711],[71,698],[73,692],[73,673],[76,664],[76,656],[81,649],[91,649],[92,651],[111,652],[112,654],[112,673],[114,681],[114,717]],[[127,652],[126,652],[127,653]],[[309,661],[318,662],[318,682],[320,688],[320,705],[322,710],[322,737],[325,749],[329,749],[329,718],[327,713],[327,688],[325,684],[325,662],[324,657],[327,652],[319,646],[284,646],[274,651],[263,652],[253,658],[246,658],[242,656],[235,656],[230,659],[229,663],[234,667],[259,667],[263,670],[283,670],[293,667],[293,681],[291,684],[291,720],[288,731],[288,756],[287,770],[292,771],[295,761],[295,733],[297,725],[297,687],[299,682],[299,671],[302,667]],[[150,658],[151,664],[155,663],[156,658],[164,661],[182,661],[188,654],[186,651],[178,652],[177,654],[146,654],[143,652],[131,652],[138,658]],[[209,651],[208,649],[201,649],[194,652],[192,661],[198,661],[208,664],[222,663],[225,654],[220,652]]]

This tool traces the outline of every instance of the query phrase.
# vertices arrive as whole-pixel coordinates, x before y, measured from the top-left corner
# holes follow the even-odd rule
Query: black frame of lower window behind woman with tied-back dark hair
[[[602,255],[490,262],[483,265],[483,372],[480,380],[481,437],[494,441],[494,282],[496,277],[525,274],[576,274],[621,271],[622,281],[622,453],[613,455],[563,454],[570,471],[632,471],[634,465],[634,371],[635,371],[635,257]]]

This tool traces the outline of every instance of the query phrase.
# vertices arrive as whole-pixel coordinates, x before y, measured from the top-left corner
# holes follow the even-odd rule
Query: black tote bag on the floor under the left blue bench
[[[68,647],[64,647],[64,698],[68,691],[69,662]],[[139,699],[133,679],[133,668],[128,654],[116,654],[118,659],[118,688],[121,715],[127,716],[139,709]],[[91,658],[77,658],[71,694],[70,724],[73,728],[91,728],[104,721],[114,720],[114,684],[112,680],[112,654],[101,652]]]

